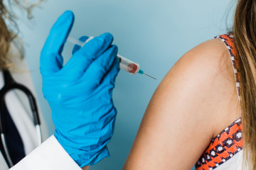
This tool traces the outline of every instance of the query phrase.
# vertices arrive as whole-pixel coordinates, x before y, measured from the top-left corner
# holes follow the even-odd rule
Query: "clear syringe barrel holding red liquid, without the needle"
[[[119,59],[120,69],[129,72],[130,74],[137,74],[139,72],[139,64],[136,62],[132,62],[127,58],[122,57],[121,55],[117,55]]]

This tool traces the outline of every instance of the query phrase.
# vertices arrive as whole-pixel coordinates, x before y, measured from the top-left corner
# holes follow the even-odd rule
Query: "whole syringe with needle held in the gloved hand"
[[[71,43],[76,44],[76,45],[80,45],[82,47],[87,42],[92,40],[93,38],[94,37],[90,37],[85,42],[82,42],[81,40],[77,40],[75,38],[68,37],[68,42],[71,42]],[[133,74],[133,75],[139,73],[139,74],[144,74],[148,77],[151,77],[148,74],[145,74],[142,69],[139,69],[139,64],[137,62],[132,62],[131,60],[128,60],[127,58],[122,57],[122,55],[117,54],[117,57],[119,59],[120,69],[122,69],[124,71],[127,71],[127,72],[129,72],[130,74]],[[151,77],[151,78],[156,79],[154,77]]]

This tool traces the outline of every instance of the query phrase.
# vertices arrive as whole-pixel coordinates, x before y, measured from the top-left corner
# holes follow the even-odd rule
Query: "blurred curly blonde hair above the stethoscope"
[[[44,0],[40,0],[34,4],[29,4],[28,0],[9,0],[6,3],[8,7],[15,5],[27,11],[28,18],[32,18],[31,10]],[[19,51],[19,55],[23,57],[23,47],[21,40],[18,40],[18,26],[15,22],[15,15],[10,8],[6,7],[3,0],[0,0],[0,68],[9,69],[13,66],[9,57],[11,43],[13,43]],[[15,41],[16,40],[16,41]]]

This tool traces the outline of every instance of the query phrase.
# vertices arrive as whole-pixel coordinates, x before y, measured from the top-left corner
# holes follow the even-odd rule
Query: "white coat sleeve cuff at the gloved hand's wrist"
[[[60,145],[54,136],[51,136],[39,147],[28,154],[10,170],[81,170]]]

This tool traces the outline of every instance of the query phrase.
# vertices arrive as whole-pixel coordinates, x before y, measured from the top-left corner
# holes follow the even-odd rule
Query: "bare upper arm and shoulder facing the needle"
[[[227,54],[222,42],[209,40],[174,64],[151,98],[124,170],[182,170],[196,164],[213,136],[236,116],[226,113],[235,101],[231,62],[224,60],[228,69],[220,67]]]

